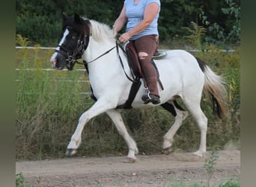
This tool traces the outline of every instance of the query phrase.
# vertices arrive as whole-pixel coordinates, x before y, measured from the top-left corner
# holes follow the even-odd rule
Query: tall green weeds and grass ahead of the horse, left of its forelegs
[[[82,83],[86,82],[78,80],[84,79],[85,74],[43,70],[49,67],[45,61],[49,61],[52,52],[40,52],[37,46],[33,53],[21,49],[17,54],[21,58],[17,62],[16,79],[16,149],[20,158],[40,159],[64,150],[61,141],[70,136],[64,134],[73,131],[73,126],[67,124],[78,119],[81,108],[88,105],[79,94]],[[84,87],[89,90],[88,85]],[[57,147],[56,141],[60,143]]]

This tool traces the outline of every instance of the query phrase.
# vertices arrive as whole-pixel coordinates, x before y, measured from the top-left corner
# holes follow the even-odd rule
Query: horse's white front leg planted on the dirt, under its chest
[[[127,155],[127,159],[125,162],[133,163],[136,160],[135,155],[138,154],[138,148],[135,143],[135,141],[131,138],[129,133],[127,132],[127,128],[124,125],[124,121],[121,117],[120,112],[118,112],[115,109],[106,111],[106,114],[109,115],[109,117],[112,119],[113,123],[115,124],[115,127],[118,129],[119,134],[124,138],[124,141],[126,141],[128,147],[129,147],[129,153]]]

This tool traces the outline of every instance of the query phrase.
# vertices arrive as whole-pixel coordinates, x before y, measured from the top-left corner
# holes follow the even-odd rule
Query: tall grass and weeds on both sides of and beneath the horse
[[[28,39],[17,36],[20,46]],[[16,159],[45,159],[62,157],[80,115],[94,101],[89,94],[87,73],[73,71],[46,71],[51,68],[49,58],[53,50],[17,49],[16,51]],[[207,146],[219,148],[228,141],[240,139],[240,71],[239,50],[234,53],[203,52],[202,59],[210,67],[224,74],[228,82],[229,114],[224,120],[212,114],[210,100],[202,99],[202,108],[208,117]],[[223,60],[225,60],[223,62]],[[219,66],[216,65],[219,62]],[[82,68],[76,65],[75,69]],[[181,101],[180,105],[183,105]],[[174,117],[161,107],[122,110],[127,129],[143,153],[159,153],[162,137],[174,122]],[[174,150],[193,151],[198,148],[200,132],[189,116],[174,137]],[[90,120],[82,132],[78,156],[126,155],[127,145],[106,114]]]

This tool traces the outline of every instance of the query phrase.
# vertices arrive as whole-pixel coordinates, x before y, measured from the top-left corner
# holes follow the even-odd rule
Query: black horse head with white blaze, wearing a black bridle
[[[90,37],[90,22],[77,13],[68,17],[63,13],[62,39],[52,55],[52,67],[73,70],[76,60],[82,58]]]

